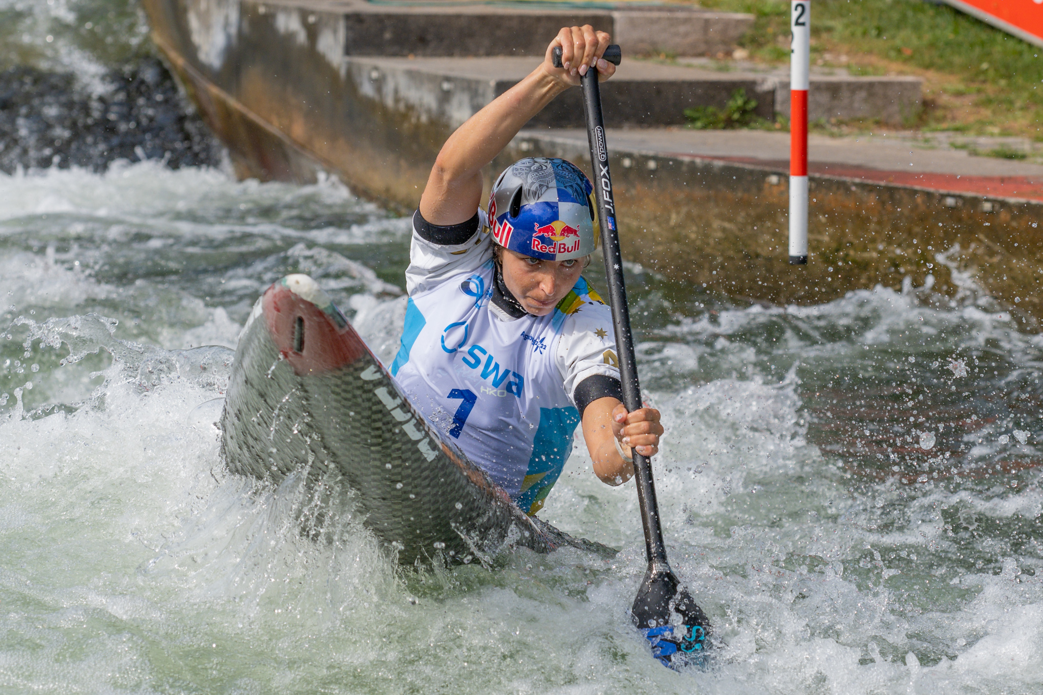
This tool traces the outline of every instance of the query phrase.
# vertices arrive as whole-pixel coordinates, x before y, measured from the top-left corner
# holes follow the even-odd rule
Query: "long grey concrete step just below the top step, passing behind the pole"
[[[346,63],[363,95],[390,107],[407,106],[421,121],[456,127],[529,74],[539,59],[349,56]],[[900,121],[919,107],[920,85],[919,78],[908,77],[815,76],[809,94],[811,118]],[[723,107],[738,89],[757,100],[758,116],[771,119],[776,111],[789,114],[789,80],[626,56],[615,76],[602,85],[602,103],[606,124],[612,127],[683,125],[685,108]],[[559,96],[529,125],[581,127],[580,91]]]

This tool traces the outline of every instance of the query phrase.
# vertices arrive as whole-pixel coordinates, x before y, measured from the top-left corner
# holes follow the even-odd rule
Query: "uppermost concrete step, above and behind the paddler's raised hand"
[[[314,4],[330,8],[321,0]],[[343,6],[348,55],[543,55],[562,26],[584,24],[612,34],[629,55],[714,55],[730,53],[754,21],[752,15],[678,5],[558,9],[524,3],[359,2]]]

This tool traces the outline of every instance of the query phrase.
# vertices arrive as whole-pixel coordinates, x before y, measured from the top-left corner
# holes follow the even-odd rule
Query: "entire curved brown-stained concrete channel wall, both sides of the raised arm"
[[[391,209],[415,207],[453,129],[436,115],[463,108],[453,105],[457,96],[432,84],[432,101],[422,104],[361,64],[338,60],[330,46],[342,31],[340,14],[236,0],[144,5],[157,45],[240,175],[302,181],[322,168]],[[209,29],[186,6],[208,7]],[[519,135],[486,174],[535,154],[586,169],[582,144],[542,129]],[[612,166],[625,255],[681,290],[695,282],[734,297],[814,303],[877,283],[901,288],[906,277],[920,286],[929,275],[955,296],[968,287],[956,271],[1010,302],[1024,325],[1043,318],[1039,204],[997,201],[986,213],[973,196],[945,196],[949,205],[936,193],[812,176],[815,257],[793,267],[784,253],[784,172],[621,151]],[[943,250],[950,251],[944,260]]]

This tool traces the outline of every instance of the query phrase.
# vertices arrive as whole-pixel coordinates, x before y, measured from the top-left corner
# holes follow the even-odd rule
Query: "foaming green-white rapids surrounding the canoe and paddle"
[[[579,443],[540,515],[614,561],[403,572],[350,499],[315,541],[299,480],[224,471],[253,299],[307,272],[390,359],[408,220],[155,163],[0,176],[0,199],[6,690],[1043,691],[1043,345],[980,293],[763,308],[631,268],[668,549],[717,642],[678,673],[627,615],[633,488]]]

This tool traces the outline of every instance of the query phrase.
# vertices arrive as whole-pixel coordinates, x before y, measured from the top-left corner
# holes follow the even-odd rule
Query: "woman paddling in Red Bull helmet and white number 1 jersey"
[[[595,473],[633,475],[658,450],[658,411],[627,413],[612,319],[583,278],[598,238],[592,188],[576,165],[528,157],[504,171],[486,210],[481,170],[554,97],[602,59],[609,35],[563,28],[543,61],[442,146],[413,215],[409,302],[391,374],[528,514],[561,474],[582,422]],[[563,68],[551,52],[561,47]]]

